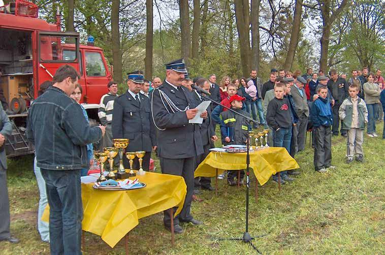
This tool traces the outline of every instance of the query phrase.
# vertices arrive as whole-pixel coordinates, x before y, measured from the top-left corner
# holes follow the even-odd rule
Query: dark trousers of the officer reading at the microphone
[[[159,157],[161,169],[163,174],[178,175],[184,178],[187,185],[187,194],[184,199],[182,211],[174,218],[174,226],[179,224],[179,221],[190,221],[192,216],[190,214],[192,194],[194,193],[194,169],[195,158],[165,158]],[[173,209],[176,212],[176,208]],[[171,218],[169,210],[164,211],[163,222],[166,227],[171,226]]]

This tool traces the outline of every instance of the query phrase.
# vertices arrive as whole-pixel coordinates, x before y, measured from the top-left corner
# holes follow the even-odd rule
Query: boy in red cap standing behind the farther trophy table
[[[245,116],[247,116],[247,112],[242,111],[242,102],[245,98],[240,97],[240,95],[235,94],[230,99],[231,108],[239,112]],[[221,112],[220,115],[222,119],[220,121],[220,133],[222,137],[224,137],[224,145],[230,144],[243,144],[247,143],[248,139],[248,131],[251,130],[250,123],[246,120],[246,118],[235,114],[232,111]],[[230,186],[237,185],[237,181],[235,177],[237,176],[236,170],[229,170],[227,174],[227,180]],[[241,170],[240,174],[240,184],[243,184],[243,177],[245,176],[245,172]]]

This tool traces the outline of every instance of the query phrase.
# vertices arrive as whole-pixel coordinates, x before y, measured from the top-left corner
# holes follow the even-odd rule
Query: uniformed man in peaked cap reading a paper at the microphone
[[[157,128],[157,145],[162,173],[183,176],[187,194],[180,214],[174,219],[175,233],[182,233],[179,222],[202,224],[190,214],[194,192],[195,157],[203,153],[202,138],[198,124],[189,123],[198,109],[191,92],[182,86],[187,72],[183,59],[166,64],[166,79],[152,93],[151,111]],[[201,114],[207,118],[207,111]],[[175,210],[174,210],[175,212]],[[169,212],[164,212],[164,224],[171,229]]]

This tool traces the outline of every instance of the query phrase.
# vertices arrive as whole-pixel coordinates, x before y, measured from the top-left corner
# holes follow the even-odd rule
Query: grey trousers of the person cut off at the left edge
[[[10,213],[7,187],[7,170],[0,165],[0,240],[10,237]]]

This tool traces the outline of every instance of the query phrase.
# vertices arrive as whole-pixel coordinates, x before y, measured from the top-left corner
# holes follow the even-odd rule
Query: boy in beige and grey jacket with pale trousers
[[[339,109],[342,129],[347,130],[347,164],[353,162],[354,155],[359,162],[362,162],[364,158],[362,142],[365,123],[368,122],[368,109],[365,101],[358,97],[358,93],[359,87],[356,84],[350,85],[349,97],[342,102]]]

